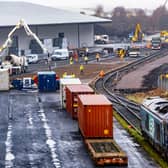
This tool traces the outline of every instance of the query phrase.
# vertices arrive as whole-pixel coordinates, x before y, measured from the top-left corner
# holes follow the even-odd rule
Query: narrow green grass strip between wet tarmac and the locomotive
[[[145,138],[139,135],[133,128],[129,127],[129,124],[117,112],[114,112],[114,117],[162,168],[168,168],[168,163],[160,157]]]

